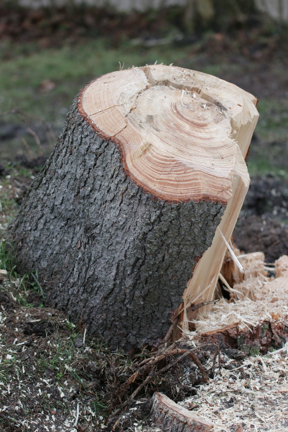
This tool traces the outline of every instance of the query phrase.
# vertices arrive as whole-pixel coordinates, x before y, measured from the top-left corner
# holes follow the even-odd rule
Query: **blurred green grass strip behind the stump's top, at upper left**
[[[116,49],[101,39],[36,52],[34,44],[30,48],[28,55],[16,55],[0,63],[1,109],[19,108],[47,121],[55,121],[57,107],[68,109],[78,90],[89,80],[118,70],[119,62],[124,63],[125,69],[156,60],[181,66],[181,59],[189,52],[187,47],[179,49],[169,45],[147,49],[123,44]],[[54,82],[55,89],[41,92],[44,80]]]

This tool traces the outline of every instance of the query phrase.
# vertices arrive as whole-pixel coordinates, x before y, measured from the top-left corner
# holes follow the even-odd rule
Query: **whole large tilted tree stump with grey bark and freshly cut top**
[[[82,89],[5,233],[47,302],[114,348],[157,345],[175,316],[185,331],[191,303],[213,299],[222,235],[229,241],[249,186],[256,103],[164,65]]]

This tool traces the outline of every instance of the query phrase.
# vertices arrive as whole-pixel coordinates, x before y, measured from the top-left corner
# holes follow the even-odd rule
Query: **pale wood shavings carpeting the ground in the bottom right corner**
[[[213,432],[288,430],[288,344],[267,356],[248,357],[239,368],[222,368],[197,394],[180,403],[214,423]],[[235,362],[223,356],[225,365]],[[236,363],[235,363],[236,364]],[[264,368],[265,365],[265,368]],[[253,429],[254,428],[254,429]]]

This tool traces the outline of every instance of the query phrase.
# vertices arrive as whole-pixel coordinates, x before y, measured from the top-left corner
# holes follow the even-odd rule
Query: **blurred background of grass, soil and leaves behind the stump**
[[[0,175],[6,179],[17,167],[19,184],[19,172],[34,177],[74,96],[91,79],[120,67],[173,63],[259,99],[244,214],[269,215],[283,226],[287,54],[288,0],[2,0]]]

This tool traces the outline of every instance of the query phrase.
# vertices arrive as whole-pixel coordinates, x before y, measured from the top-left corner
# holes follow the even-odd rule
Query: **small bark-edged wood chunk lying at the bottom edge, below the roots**
[[[169,432],[206,432],[213,424],[180,407],[165,394],[155,392],[153,397],[152,417],[157,426]]]

